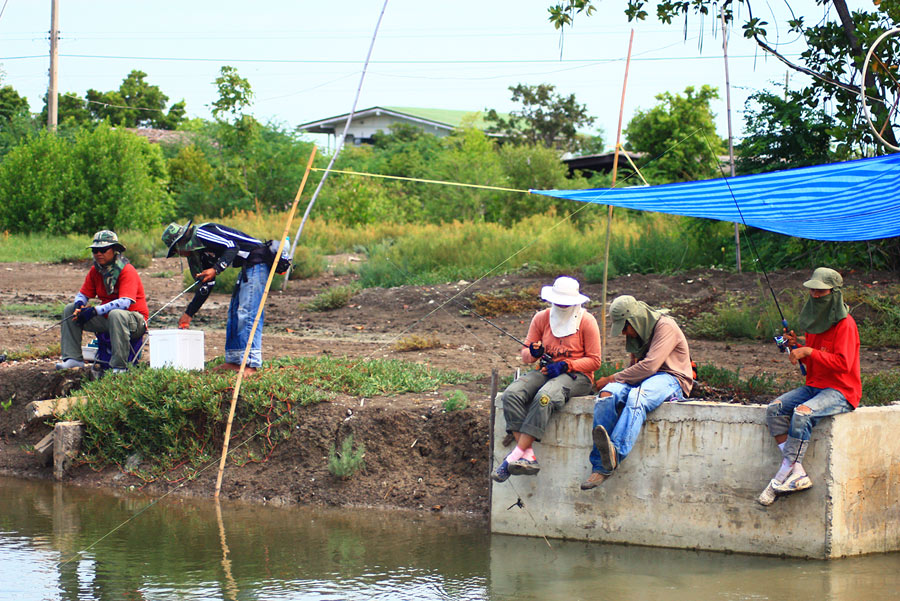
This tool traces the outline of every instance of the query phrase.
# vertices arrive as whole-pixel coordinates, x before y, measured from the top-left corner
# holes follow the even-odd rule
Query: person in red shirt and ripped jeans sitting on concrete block
[[[783,459],[757,499],[761,505],[771,505],[778,495],[812,486],[801,462],[813,427],[823,417],[859,406],[859,331],[844,304],[843,284],[841,274],[827,267],[819,267],[803,282],[810,298],[800,310],[797,328],[806,332],[806,341],[801,340],[801,346],[797,346],[794,332],[785,334],[793,349],[791,363],[802,361],[806,367],[806,386],[786,392],[766,410],[769,432]]]

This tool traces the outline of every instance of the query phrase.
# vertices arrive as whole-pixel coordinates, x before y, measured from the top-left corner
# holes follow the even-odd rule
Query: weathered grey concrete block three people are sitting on
[[[495,464],[510,450],[496,404]],[[535,444],[541,472],[492,484],[493,532],[818,558],[900,549],[900,407],[822,420],[803,462],[813,488],[770,507],[756,502],[781,462],[765,407],[665,403],[612,478],[582,491],[592,411],[593,397],[572,399]]]

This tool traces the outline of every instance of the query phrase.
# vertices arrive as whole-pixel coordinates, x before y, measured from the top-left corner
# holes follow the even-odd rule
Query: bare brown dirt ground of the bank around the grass
[[[349,255],[331,257],[331,264],[358,261]],[[58,328],[41,319],[12,310],[10,306],[70,302],[80,287],[88,264],[0,264],[0,351],[46,348],[59,342]],[[179,259],[155,259],[140,270],[151,315],[175,297],[184,285]],[[769,274],[777,293],[796,290],[805,272]],[[505,276],[476,283],[437,286],[402,286],[368,289],[341,309],[314,312],[306,308],[316,295],[344,285],[353,276],[336,277],[331,271],[303,281],[292,281],[287,290],[273,291],[266,305],[263,335],[264,358],[310,356],[323,353],[360,358],[399,358],[432,367],[471,373],[477,380],[454,388],[464,390],[470,407],[445,413],[442,401],[449,390],[392,398],[343,398],[302,409],[295,436],[280,444],[265,463],[237,468],[229,465],[223,495],[277,504],[328,504],[403,507],[486,514],[488,511],[491,372],[509,377],[520,367],[516,342],[471,312],[464,311],[476,293],[502,290],[534,290],[552,282],[550,277]],[[893,274],[845,274],[845,285],[877,289],[898,284]],[[632,294],[656,307],[668,307],[685,323],[728,292],[757,292],[764,285],[758,273],[732,274],[697,270],[674,276],[626,275],[612,280],[608,295]],[[599,299],[601,287],[584,285],[582,292]],[[188,297],[166,307],[151,321],[151,328],[175,327]],[[215,295],[192,322],[205,331],[207,359],[223,354],[228,296]],[[592,303],[593,305],[593,303]],[[599,304],[589,305],[600,318]],[[6,309],[6,310],[5,310]],[[532,314],[492,317],[491,321],[513,336],[524,338]],[[400,351],[398,342],[410,336],[437,339],[440,346],[428,350]],[[85,342],[87,338],[85,339]],[[693,359],[729,369],[740,368],[742,377],[761,373],[797,378],[796,368],[771,342],[721,342],[690,340]],[[608,342],[607,360],[624,359],[624,342]],[[49,468],[36,465],[30,445],[48,430],[46,426],[23,429],[25,405],[54,398],[77,389],[76,370],[56,372],[55,359],[0,363],[0,473],[49,478]],[[862,369],[879,372],[900,366],[900,350],[864,348]],[[715,391],[706,391],[716,398]],[[701,389],[703,394],[703,389]],[[767,398],[735,399],[765,402]],[[500,417],[499,419],[502,419]],[[366,445],[366,470],[348,480],[331,476],[325,466],[328,449],[337,436],[352,432]],[[123,470],[94,472],[87,466],[72,471],[71,482],[85,486],[122,489],[145,486],[163,493],[209,496],[214,490],[217,466],[192,481],[145,485]]]

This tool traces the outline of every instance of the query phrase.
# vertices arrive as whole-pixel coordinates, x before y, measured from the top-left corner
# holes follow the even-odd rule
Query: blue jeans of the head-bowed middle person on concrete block
[[[681,384],[675,376],[657,373],[650,376],[638,386],[612,382],[600,392],[609,392],[610,396],[597,397],[594,403],[594,428],[603,426],[609,439],[616,447],[616,457],[621,462],[637,441],[641,426],[647,414],[655,410],[665,401],[684,398]],[[591,470],[601,474],[609,474],[600,462],[597,447],[591,448]]]

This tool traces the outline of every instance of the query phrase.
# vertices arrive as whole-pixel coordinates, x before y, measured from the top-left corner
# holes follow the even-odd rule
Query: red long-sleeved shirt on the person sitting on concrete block
[[[848,315],[821,334],[806,334],[812,354],[803,360],[806,385],[839,390],[847,402],[859,407],[862,380],[859,375],[859,330]]]

